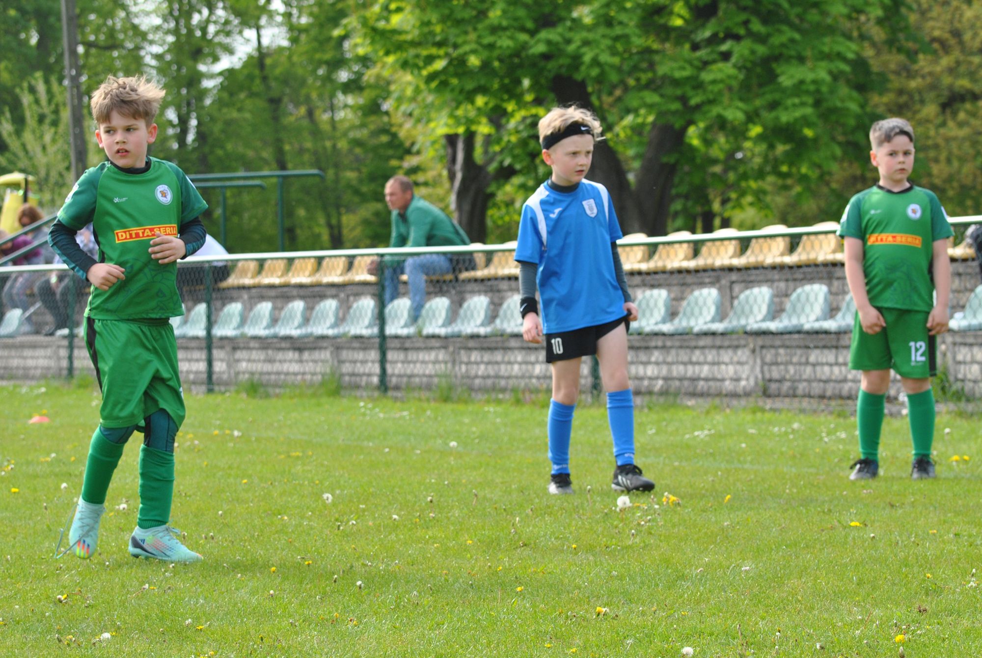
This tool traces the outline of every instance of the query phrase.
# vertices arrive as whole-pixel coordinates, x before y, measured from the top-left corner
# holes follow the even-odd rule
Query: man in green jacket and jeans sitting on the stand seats
[[[469,245],[464,229],[447,213],[412,192],[412,181],[393,176],[385,184],[385,202],[392,210],[392,238],[389,247],[447,247]],[[426,302],[426,277],[473,269],[473,256],[425,253],[418,256],[386,256],[385,303],[399,295],[399,276],[409,279],[409,302],[413,319],[419,317]]]

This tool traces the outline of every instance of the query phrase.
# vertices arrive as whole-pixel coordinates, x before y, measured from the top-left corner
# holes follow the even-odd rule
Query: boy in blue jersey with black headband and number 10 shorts
[[[607,415],[614,439],[612,487],[651,491],[655,483],[634,465],[634,401],[627,381],[627,322],[637,306],[627,292],[616,241],[622,237],[614,205],[604,186],[585,180],[600,139],[600,122],[579,107],[557,107],[539,122],[542,159],[552,168],[521,209],[518,226],[518,283],[522,337],[545,338],[552,365],[549,407],[551,494],[572,494],[570,436],[579,395],[579,365],[596,355],[607,391]],[[542,301],[539,320],[535,288]]]

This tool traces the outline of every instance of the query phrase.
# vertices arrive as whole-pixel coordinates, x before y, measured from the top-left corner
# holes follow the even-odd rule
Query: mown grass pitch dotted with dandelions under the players
[[[539,404],[192,396],[173,524],[205,561],[172,567],[126,551],[138,434],[97,554],[52,559],[99,397],[0,397],[4,656],[982,655],[977,418],[939,415],[917,482],[888,418],[857,484],[846,414],[639,410],[657,495],[619,511],[599,406],[550,497]]]

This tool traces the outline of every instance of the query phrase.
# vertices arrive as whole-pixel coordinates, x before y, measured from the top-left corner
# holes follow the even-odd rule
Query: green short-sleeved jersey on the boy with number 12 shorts
[[[863,243],[866,294],[874,306],[930,311],[934,307],[934,243],[952,226],[934,192],[911,186],[890,192],[874,186],[849,200],[840,238]]]

